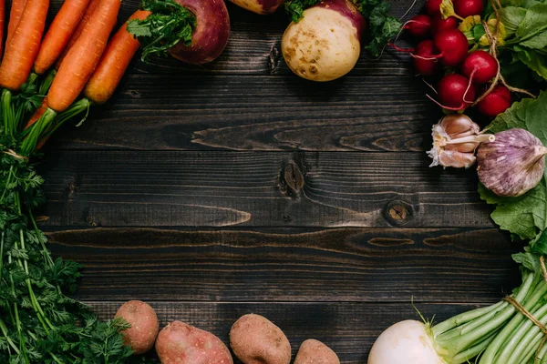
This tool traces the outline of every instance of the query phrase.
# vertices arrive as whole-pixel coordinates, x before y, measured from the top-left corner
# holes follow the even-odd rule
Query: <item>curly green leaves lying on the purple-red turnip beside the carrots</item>
[[[140,9],[152,15],[130,20],[127,29],[139,39],[143,61],[150,56],[168,56],[168,50],[179,42],[191,45],[196,17],[187,7],[173,0],[144,0]]]

